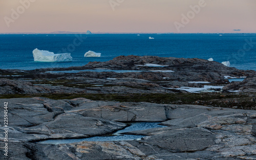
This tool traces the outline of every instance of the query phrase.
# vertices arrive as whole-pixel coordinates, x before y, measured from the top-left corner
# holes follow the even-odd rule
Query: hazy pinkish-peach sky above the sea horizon
[[[0,19],[0,33],[256,33],[256,0],[1,0]]]

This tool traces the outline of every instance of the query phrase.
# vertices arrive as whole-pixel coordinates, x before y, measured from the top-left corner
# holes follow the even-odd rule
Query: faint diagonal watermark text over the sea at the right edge
[[[254,47],[256,47],[256,41],[253,42],[252,38],[245,39],[243,48],[239,49],[237,53],[232,53],[230,56],[228,56],[227,61],[229,61],[231,64],[236,64],[245,56],[246,52],[251,51]]]

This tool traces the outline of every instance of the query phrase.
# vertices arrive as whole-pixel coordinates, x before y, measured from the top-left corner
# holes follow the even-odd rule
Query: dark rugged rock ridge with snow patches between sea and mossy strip
[[[145,66],[145,64],[162,67]],[[82,71],[97,71],[99,68],[104,68],[104,70],[102,72]],[[120,69],[124,72],[114,72]],[[71,70],[81,72],[55,73]],[[113,72],[108,72],[108,70]],[[127,70],[130,72],[125,72]],[[187,93],[182,87],[224,86],[229,84],[227,78],[230,77],[247,77],[252,82],[246,83],[246,88],[251,89],[243,89],[243,92],[255,93],[255,75],[256,71],[238,70],[215,61],[197,58],[119,56],[107,62],[90,62],[80,67],[45,68],[32,71],[0,70],[0,95]],[[243,85],[245,84],[239,84],[240,88]],[[229,88],[224,87],[223,90],[228,92]],[[230,90],[234,90],[234,87]]]

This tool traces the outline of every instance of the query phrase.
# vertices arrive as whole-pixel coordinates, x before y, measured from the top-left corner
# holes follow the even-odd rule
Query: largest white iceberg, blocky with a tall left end
[[[38,62],[69,62],[72,61],[70,53],[54,54],[44,50],[33,50],[34,61]]]

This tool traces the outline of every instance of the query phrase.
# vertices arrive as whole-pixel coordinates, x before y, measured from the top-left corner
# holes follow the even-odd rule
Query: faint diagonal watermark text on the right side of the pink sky
[[[191,10],[188,11],[186,14],[181,14],[181,22],[174,22],[176,30],[180,32],[180,29],[184,28],[187,24],[189,24],[190,20],[194,19],[195,16],[201,11],[201,8],[204,8],[206,5],[207,4],[205,0],[199,0],[198,5],[195,6],[190,5],[189,8]]]

